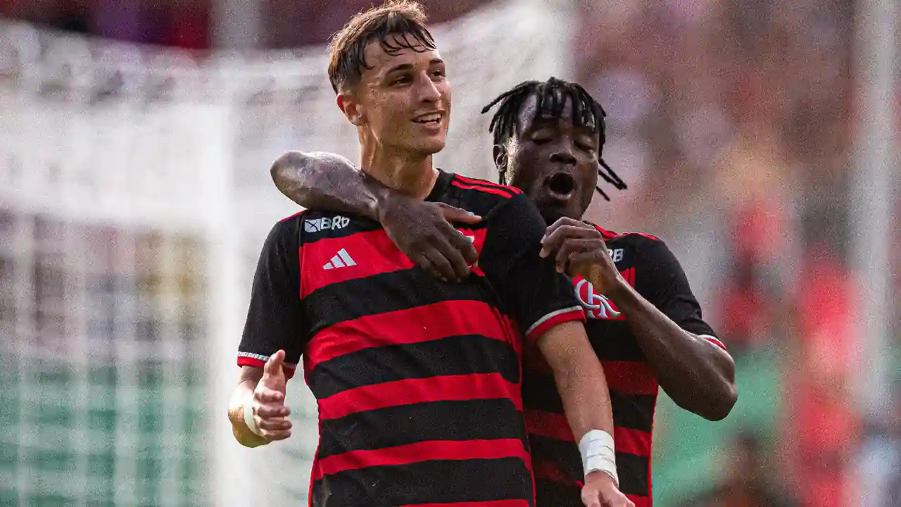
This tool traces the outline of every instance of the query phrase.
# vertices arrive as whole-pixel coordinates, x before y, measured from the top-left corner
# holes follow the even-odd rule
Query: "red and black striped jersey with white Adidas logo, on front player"
[[[311,505],[533,505],[522,351],[584,312],[538,255],[544,223],[519,190],[442,171],[428,199],[483,217],[458,227],[479,253],[466,281],[336,213],[287,218],[263,247],[238,364],[303,358],[319,410]]]

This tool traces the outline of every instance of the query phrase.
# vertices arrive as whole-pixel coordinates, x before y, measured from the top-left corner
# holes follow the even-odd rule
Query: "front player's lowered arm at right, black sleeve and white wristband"
[[[604,370],[588,342],[585,312],[572,281],[556,271],[551,259],[538,255],[542,217],[528,198],[517,194],[493,210],[488,220],[479,265],[505,310],[525,330],[526,340],[538,346],[551,366],[569,427],[582,451],[587,486],[606,489],[602,500],[625,505],[625,497],[614,487],[614,423]],[[595,504],[597,499],[595,493],[588,500]]]

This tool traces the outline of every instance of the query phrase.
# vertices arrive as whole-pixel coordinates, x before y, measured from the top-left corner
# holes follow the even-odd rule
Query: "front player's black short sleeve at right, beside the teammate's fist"
[[[572,281],[557,272],[553,259],[538,254],[547,227],[532,201],[516,194],[486,218],[478,264],[526,339],[533,342],[562,322],[584,321]]]

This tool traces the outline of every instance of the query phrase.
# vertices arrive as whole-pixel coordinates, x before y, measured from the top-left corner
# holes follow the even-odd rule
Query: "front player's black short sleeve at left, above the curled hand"
[[[300,318],[298,224],[287,218],[269,231],[253,276],[250,309],[238,347],[238,364],[261,368],[269,355],[285,350],[290,378],[304,344]]]

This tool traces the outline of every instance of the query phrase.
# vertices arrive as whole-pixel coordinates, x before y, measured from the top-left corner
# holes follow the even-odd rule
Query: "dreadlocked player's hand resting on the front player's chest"
[[[463,280],[469,266],[478,261],[471,240],[451,226],[451,222],[478,224],[482,218],[469,211],[398,194],[385,201],[378,215],[397,248],[442,280]]]

